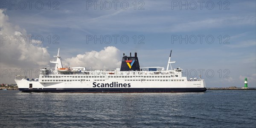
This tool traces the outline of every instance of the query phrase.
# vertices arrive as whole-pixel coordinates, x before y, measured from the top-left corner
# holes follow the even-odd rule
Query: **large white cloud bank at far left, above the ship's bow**
[[[6,10],[0,9],[0,69],[15,73],[15,70],[40,69],[46,66],[50,58],[47,48],[35,44],[40,41],[30,41],[26,30],[10,23],[5,13]],[[8,74],[6,77],[2,75],[1,72],[1,82],[13,82],[15,78]]]

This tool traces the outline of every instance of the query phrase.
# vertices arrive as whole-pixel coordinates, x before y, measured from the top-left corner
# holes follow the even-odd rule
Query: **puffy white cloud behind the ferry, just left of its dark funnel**
[[[121,66],[120,51],[116,47],[104,47],[101,51],[85,52],[76,57],[66,58],[63,64],[69,67],[86,67],[89,69],[116,69]],[[63,66],[64,66],[63,65]]]

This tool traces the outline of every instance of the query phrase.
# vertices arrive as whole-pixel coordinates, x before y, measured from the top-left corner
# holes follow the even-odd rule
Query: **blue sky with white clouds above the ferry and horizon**
[[[36,77],[60,48],[64,67],[173,68],[207,87],[256,87],[255,0],[1,0],[0,83]]]

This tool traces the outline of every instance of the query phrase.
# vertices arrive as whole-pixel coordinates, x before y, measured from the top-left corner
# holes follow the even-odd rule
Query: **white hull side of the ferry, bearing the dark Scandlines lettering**
[[[137,73],[140,74],[140,72],[137,72]],[[51,78],[53,76],[55,78]],[[73,76],[74,77],[79,76],[80,78],[73,78]],[[143,75],[139,77],[129,76],[129,78],[128,76],[126,76],[126,78],[122,78],[122,76],[115,76],[115,77],[121,77],[121,78],[112,78],[113,76],[114,75],[108,75],[108,76],[47,75],[47,76],[44,76],[46,78],[39,78],[39,81],[27,81],[26,79],[15,80],[15,81],[19,88],[27,88],[27,89],[30,88],[34,90],[36,89],[58,90],[58,89],[72,89],[72,88],[73,89],[101,88],[103,90],[104,88],[105,89],[108,89],[108,88],[116,88],[116,89],[117,88],[184,88],[184,89],[205,88],[205,81],[202,79],[197,81],[188,81],[186,77],[172,78],[172,77],[169,77],[170,75]],[[96,78],[86,78],[86,77],[96,77]],[[32,84],[32,87],[29,87],[29,85],[31,84]]]

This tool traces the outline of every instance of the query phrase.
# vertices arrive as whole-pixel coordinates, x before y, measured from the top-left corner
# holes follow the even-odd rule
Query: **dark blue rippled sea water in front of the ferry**
[[[205,93],[1,90],[0,127],[256,128],[256,90]]]

